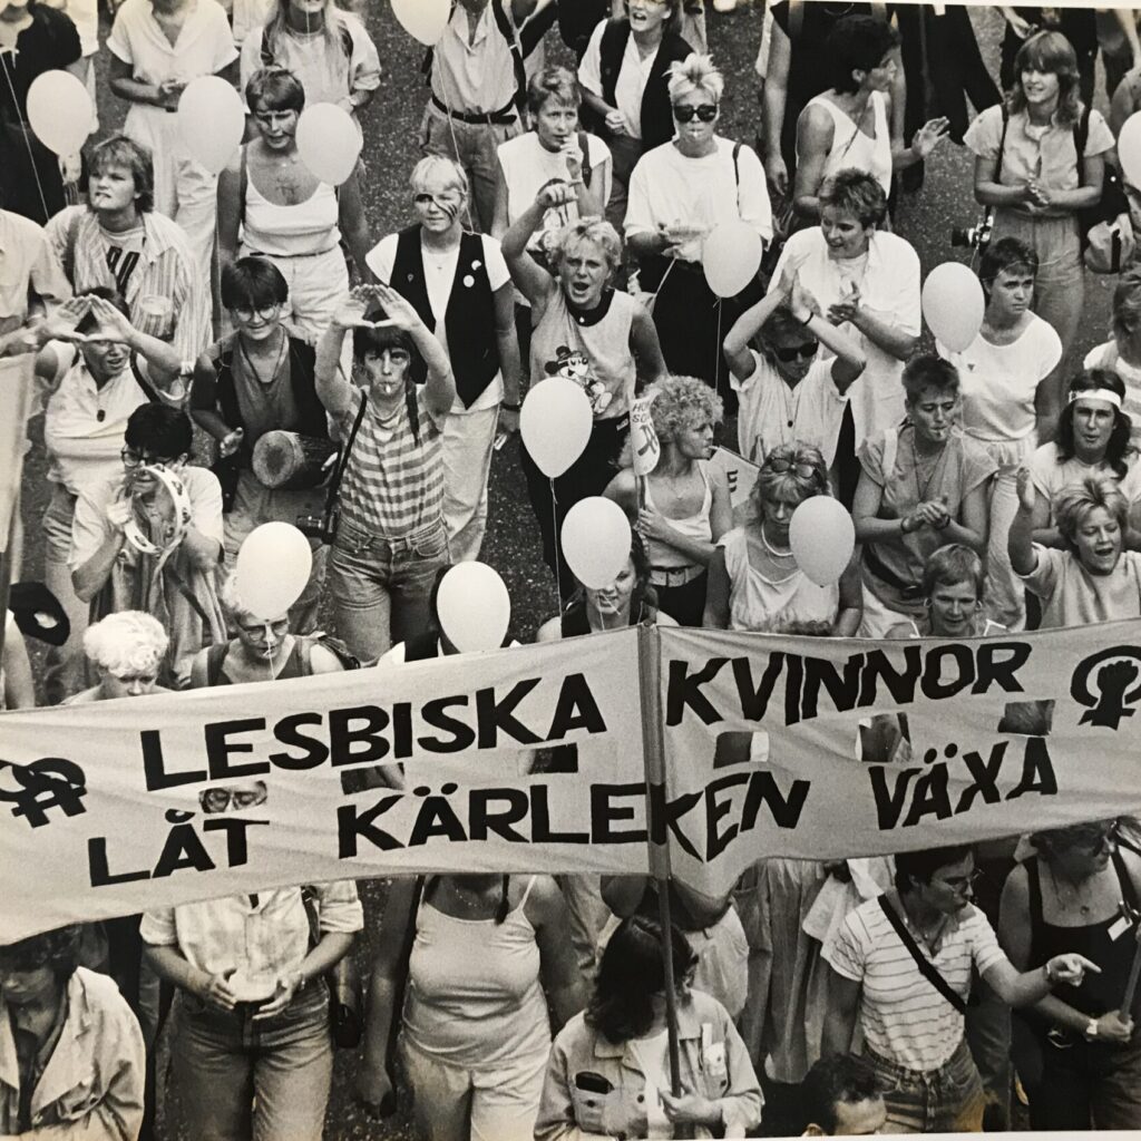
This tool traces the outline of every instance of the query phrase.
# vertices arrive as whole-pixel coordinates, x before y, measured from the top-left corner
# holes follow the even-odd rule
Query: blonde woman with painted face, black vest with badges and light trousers
[[[421,159],[408,180],[415,222],[367,256],[452,361],[455,399],[444,424],[444,523],[453,563],[479,558],[496,426],[519,427],[523,369],[511,275],[500,243],[463,229],[468,176],[446,155]],[[418,375],[416,380],[422,380]]]

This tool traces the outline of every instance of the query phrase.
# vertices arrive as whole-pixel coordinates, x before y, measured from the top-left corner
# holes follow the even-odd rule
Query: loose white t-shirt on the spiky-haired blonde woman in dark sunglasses
[[[656,233],[658,225],[703,226],[748,222],[766,242],[772,237],[772,208],[764,168],[752,147],[742,146],[736,164],[733,139],[715,138],[717,149],[687,159],[672,143],[647,151],[630,176],[625,234]],[[690,238],[678,251],[686,261],[699,261],[702,240]]]

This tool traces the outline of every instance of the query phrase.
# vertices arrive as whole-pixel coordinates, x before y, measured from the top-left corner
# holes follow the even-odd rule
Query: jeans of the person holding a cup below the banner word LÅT
[[[195,1141],[319,1141],[333,1076],[329,992],[311,981],[277,1018],[181,995],[172,1062]],[[257,1109],[254,1110],[254,1099]]]

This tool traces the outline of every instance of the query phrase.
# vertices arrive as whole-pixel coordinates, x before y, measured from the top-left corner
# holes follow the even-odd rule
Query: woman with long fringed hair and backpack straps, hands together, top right
[[[1053,325],[1065,359],[1085,300],[1077,215],[1101,201],[1114,136],[1083,106],[1077,56],[1060,32],[1026,40],[1014,74],[1005,105],[984,111],[963,141],[974,153],[974,199],[994,210],[994,238],[1021,238],[1037,256],[1035,310]]]

